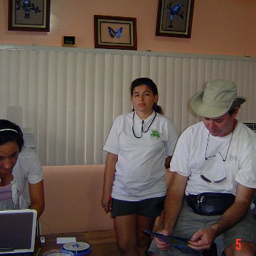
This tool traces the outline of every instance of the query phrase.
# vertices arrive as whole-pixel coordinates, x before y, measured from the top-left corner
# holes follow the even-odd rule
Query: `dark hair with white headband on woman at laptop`
[[[21,151],[24,146],[23,132],[18,124],[6,119],[0,119],[0,145],[8,142],[16,142],[19,151]]]

